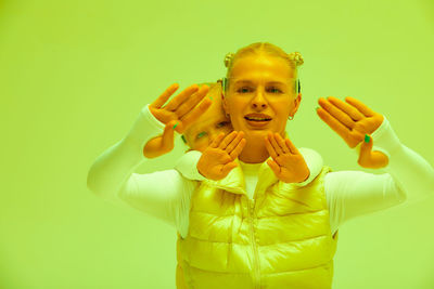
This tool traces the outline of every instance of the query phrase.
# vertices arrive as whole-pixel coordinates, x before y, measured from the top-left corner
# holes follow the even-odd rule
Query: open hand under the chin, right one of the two
[[[269,132],[265,146],[272,158],[267,163],[280,181],[301,183],[309,178],[309,168],[290,139],[283,140],[279,133]]]

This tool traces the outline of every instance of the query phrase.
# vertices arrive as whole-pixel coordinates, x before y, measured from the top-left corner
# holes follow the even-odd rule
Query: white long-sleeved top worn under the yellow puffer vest
[[[194,179],[200,180],[201,176],[195,172],[195,166],[182,169],[182,163],[194,163],[194,158],[199,159],[200,153],[188,156],[193,160],[182,159],[178,162],[178,170],[183,175],[175,169],[146,174],[133,172],[146,161],[142,154],[144,144],[162,134],[164,124],[153,117],[148,106],[144,106],[129,133],[95,159],[88,173],[88,187],[108,201],[124,201],[144,213],[164,220],[186,237],[190,198],[199,185]],[[400,143],[385,117],[371,135],[374,142],[373,149],[388,156],[388,165],[383,168],[386,173],[332,171],[324,176],[332,234],[343,223],[358,215],[403,202],[412,203],[434,195],[433,167]],[[315,156],[315,150],[303,152],[301,150],[309,167],[310,176],[296,185],[310,182],[318,174],[318,168],[322,167],[322,159]],[[358,154],[357,148],[355,152]],[[257,181],[255,165],[247,168],[248,166],[241,162],[241,166],[250,183],[247,191],[252,192]]]

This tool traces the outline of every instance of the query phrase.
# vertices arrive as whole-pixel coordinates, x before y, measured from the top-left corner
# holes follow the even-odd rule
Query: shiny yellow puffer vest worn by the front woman
[[[177,288],[331,288],[332,237],[323,188],[327,166],[306,186],[260,166],[254,199],[238,166],[193,193],[189,233],[177,240]]]

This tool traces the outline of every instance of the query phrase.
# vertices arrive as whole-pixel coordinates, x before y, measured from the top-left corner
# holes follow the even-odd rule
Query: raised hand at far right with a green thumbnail
[[[381,126],[384,117],[354,97],[345,97],[345,102],[333,96],[327,100],[320,97],[318,104],[321,108],[317,109],[317,114],[349,147],[354,148],[362,142],[357,161],[361,167],[386,167],[387,156],[378,150],[372,152],[373,140],[370,136]]]

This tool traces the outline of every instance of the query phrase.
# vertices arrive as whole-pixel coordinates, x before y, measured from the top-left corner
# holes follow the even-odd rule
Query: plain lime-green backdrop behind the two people
[[[0,1],[0,288],[174,288],[176,231],[103,201],[87,173],[166,87],[215,81],[252,42],[305,58],[295,145],[363,170],[315,111],[350,95],[434,163],[433,36],[432,0]],[[433,220],[430,199],[344,224],[333,288],[434,288]]]

